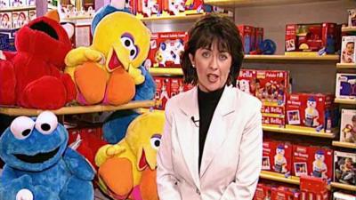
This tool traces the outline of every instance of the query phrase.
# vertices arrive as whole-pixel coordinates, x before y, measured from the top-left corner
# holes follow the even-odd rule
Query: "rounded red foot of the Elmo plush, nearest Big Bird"
[[[58,109],[66,100],[67,92],[61,79],[43,76],[25,87],[18,103],[25,108]]]

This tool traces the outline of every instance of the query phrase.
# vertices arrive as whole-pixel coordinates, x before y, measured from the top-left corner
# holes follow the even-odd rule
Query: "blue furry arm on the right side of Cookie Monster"
[[[67,148],[63,156],[69,171],[81,180],[93,180],[93,167],[77,151]]]

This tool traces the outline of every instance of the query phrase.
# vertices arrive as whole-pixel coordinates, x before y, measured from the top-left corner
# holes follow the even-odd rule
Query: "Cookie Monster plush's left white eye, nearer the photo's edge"
[[[12,121],[10,125],[10,130],[19,140],[26,139],[32,132],[35,126],[35,122],[28,116],[19,116]]]

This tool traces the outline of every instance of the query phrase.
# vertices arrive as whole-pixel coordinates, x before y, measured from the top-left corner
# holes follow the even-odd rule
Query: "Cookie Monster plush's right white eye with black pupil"
[[[44,111],[36,119],[36,130],[42,134],[51,134],[58,125],[57,116],[50,111]]]

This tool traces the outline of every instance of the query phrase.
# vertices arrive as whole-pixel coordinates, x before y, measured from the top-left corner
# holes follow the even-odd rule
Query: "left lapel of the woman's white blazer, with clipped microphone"
[[[198,176],[199,128],[198,122],[193,122],[193,120],[198,120],[199,118],[197,87],[187,92],[187,95],[181,100],[179,107],[185,114],[185,116],[180,116],[182,118],[177,119],[179,122],[179,124],[177,124],[179,144],[191,177],[196,186],[200,189]]]

